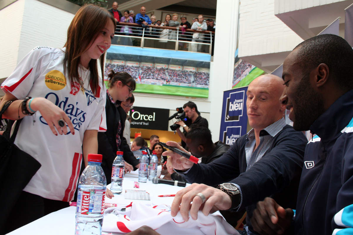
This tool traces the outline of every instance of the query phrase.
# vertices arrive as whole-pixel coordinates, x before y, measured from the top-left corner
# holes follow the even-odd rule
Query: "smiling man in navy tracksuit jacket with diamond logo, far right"
[[[260,233],[293,231],[288,226],[295,214],[294,234],[351,234],[352,228],[338,225],[352,224],[349,216],[341,219],[341,210],[353,204],[351,46],[340,36],[318,35],[297,45],[283,62],[281,101],[291,111],[293,128],[316,135],[305,148],[297,206],[273,198],[259,202],[252,222]]]

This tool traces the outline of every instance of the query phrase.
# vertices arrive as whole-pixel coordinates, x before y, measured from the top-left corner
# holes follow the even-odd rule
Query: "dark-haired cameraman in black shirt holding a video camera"
[[[187,132],[189,132],[189,128],[191,126],[204,126],[204,127],[208,128],[208,122],[207,122],[206,118],[201,117],[200,112],[197,110],[196,104],[193,103],[192,101],[189,101],[186,104],[184,104],[183,109],[184,109],[185,116],[190,119],[191,123],[186,122],[187,124],[185,124],[185,122],[183,121],[183,117],[180,117],[179,119],[181,119],[181,120],[175,122],[175,124],[178,124],[181,127],[183,127],[183,132],[180,131],[180,129],[179,129],[180,126],[178,128],[176,128],[176,131],[181,138],[181,146],[183,146],[183,148],[185,148],[185,146],[186,146],[185,134]]]

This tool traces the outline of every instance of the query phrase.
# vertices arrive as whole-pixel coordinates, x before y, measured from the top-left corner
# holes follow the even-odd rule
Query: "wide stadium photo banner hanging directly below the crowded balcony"
[[[105,82],[110,69],[130,74],[138,93],[208,98],[209,54],[112,45],[104,64]]]

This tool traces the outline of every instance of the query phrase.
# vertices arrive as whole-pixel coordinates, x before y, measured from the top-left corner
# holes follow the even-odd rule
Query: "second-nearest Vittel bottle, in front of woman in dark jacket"
[[[123,154],[122,151],[117,151],[116,157],[113,161],[112,184],[110,185],[110,191],[114,194],[120,194],[122,191],[122,180],[124,179],[125,167],[125,161],[122,157]]]

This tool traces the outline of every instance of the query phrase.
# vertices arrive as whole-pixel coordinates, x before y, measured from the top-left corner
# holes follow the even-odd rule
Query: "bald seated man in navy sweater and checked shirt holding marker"
[[[259,200],[271,196],[283,205],[295,206],[307,140],[283,119],[286,107],[279,102],[283,88],[283,80],[270,74],[250,83],[246,108],[253,129],[215,161],[194,164],[170,150],[163,153],[171,156],[167,162],[169,172],[174,167],[190,183],[199,183],[177,193],[172,216],[177,215],[179,205],[185,221],[189,219],[189,210],[191,218],[197,219],[199,208],[208,215],[211,209],[239,211],[245,207],[246,230],[250,235],[257,234],[250,218]],[[178,147],[172,141],[167,144]],[[217,185],[220,189],[211,187]]]

